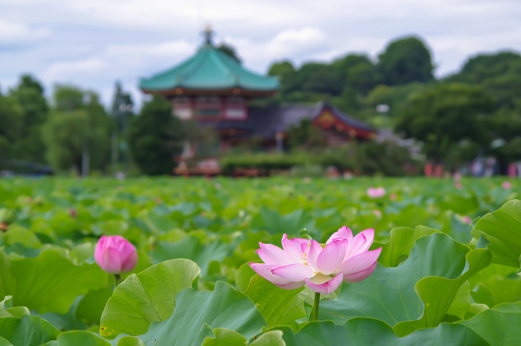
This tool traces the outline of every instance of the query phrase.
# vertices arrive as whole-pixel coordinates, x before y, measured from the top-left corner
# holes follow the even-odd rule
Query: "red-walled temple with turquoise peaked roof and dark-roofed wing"
[[[180,119],[215,129],[221,151],[254,137],[261,138],[267,150],[280,151],[290,127],[304,119],[324,131],[330,146],[376,138],[373,127],[327,102],[250,105],[253,99],[275,95],[280,87],[278,79],[246,70],[214,46],[212,33],[206,29],[205,42],[194,56],[142,79],[140,87],[144,93],[164,95],[173,104],[173,115]]]

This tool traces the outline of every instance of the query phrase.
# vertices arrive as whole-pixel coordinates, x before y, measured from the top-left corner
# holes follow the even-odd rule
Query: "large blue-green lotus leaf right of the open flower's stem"
[[[367,279],[344,283],[336,300],[320,301],[319,319],[344,323],[353,317],[367,316],[391,326],[418,319],[423,303],[414,290],[416,283],[427,276],[459,277],[468,251],[468,247],[443,233],[421,237],[405,262],[394,268],[378,263]]]

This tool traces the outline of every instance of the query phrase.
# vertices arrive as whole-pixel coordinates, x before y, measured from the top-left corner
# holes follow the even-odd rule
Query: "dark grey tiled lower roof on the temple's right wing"
[[[369,124],[353,119],[338,108],[318,102],[314,106],[289,104],[274,105],[268,107],[250,107],[249,116],[245,121],[225,120],[218,122],[200,122],[203,126],[213,126],[216,130],[238,130],[245,132],[238,137],[264,137],[273,138],[277,132],[286,132],[291,125],[299,124],[303,119],[314,119],[326,108],[338,117],[342,122],[361,130],[374,131]]]

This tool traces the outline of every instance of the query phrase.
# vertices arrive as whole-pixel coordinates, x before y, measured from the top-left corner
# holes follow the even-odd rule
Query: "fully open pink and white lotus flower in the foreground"
[[[303,238],[282,236],[282,248],[262,244],[257,253],[264,263],[250,263],[265,279],[284,289],[304,285],[313,291],[329,294],[342,281],[356,283],[367,278],[376,268],[382,248],[368,251],[375,238],[374,229],[366,229],[353,237],[351,229],[342,227],[326,244]]]

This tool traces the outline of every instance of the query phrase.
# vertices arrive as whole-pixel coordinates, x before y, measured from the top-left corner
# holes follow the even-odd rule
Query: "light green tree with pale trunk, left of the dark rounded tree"
[[[105,170],[110,160],[110,131],[113,120],[106,114],[97,94],[73,86],[57,85],[54,109],[42,126],[46,156],[56,171],[81,171],[84,146],[89,167]]]

